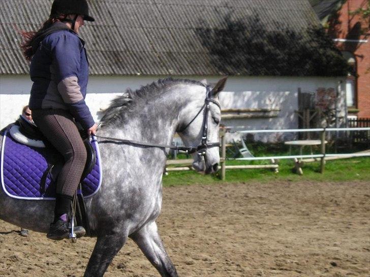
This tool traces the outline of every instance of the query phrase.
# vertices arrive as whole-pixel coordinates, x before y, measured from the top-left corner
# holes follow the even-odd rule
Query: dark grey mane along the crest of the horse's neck
[[[148,97],[158,97],[165,91],[168,85],[174,85],[178,83],[183,84],[194,84],[204,86],[200,81],[189,80],[189,79],[173,79],[171,77],[165,79],[159,79],[158,81],[152,82],[146,86],[142,86],[140,89],[132,91],[128,89],[123,95],[114,98],[109,107],[103,112],[103,117],[100,120],[102,126],[113,125],[116,122],[125,121],[131,112],[135,103]]]

